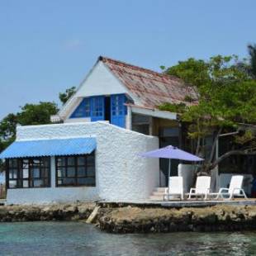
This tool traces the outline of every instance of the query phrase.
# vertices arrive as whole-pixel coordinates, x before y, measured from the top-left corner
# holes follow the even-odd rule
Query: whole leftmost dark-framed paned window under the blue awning
[[[7,187],[50,187],[50,158],[8,159]]]

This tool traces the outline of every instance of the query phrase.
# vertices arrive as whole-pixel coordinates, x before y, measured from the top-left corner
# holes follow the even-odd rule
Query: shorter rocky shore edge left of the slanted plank
[[[94,203],[0,206],[0,222],[86,220],[94,207]]]

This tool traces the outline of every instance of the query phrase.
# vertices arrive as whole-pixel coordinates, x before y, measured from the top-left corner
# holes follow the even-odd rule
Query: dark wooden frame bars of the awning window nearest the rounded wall
[[[83,157],[85,158],[85,164],[78,164],[78,158]],[[93,164],[88,165],[88,157],[93,157]],[[74,159],[74,164],[68,164],[68,159],[73,158]],[[64,159],[64,165],[59,165],[58,164],[58,159]],[[85,175],[84,176],[78,176],[78,167],[84,167],[85,168]],[[88,167],[93,167],[94,168],[94,175],[88,175]],[[64,168],[64,176],[59,177],[58,176],[58,171],[59,168]],[[68,175],[68,168],[74,168],[74,176],[69,176]],[[64,180],[65,178],[73,178],[74,183],[73,184],[59,184],[59,180]],[[79,184],[78,179],[79,178],[93,178],[94,183],[90,184]],[[95,168],[95,153],[94,151],[91,154],[78,154],[78,155],[68,155],[68,156],[56,156],[55,157],[55,186],[56,187],[96,187],[96,168]]]

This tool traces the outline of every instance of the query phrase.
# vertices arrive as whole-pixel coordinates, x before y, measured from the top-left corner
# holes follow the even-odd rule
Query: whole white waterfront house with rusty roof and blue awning
[[[148,198],[165,186],[167,162],[139,154],[165,145],[186,149],[178,115],[158,109],[191,104],[186,97],[197,101],[197,92],[178,78],[99,57],[51,117],[55,124],[17,127],[17,140],[0,154],[7,203]]]

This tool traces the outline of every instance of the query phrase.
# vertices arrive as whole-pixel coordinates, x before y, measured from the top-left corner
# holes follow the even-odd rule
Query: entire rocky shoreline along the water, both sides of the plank
[[[96,206],[96,203],[82,202],[42,206],[0,206],[0,222],[88,220]],[[256,206],[218,205],[180,209],[102,206],[93,222],[100,230],[116,234],[256,230]]]

